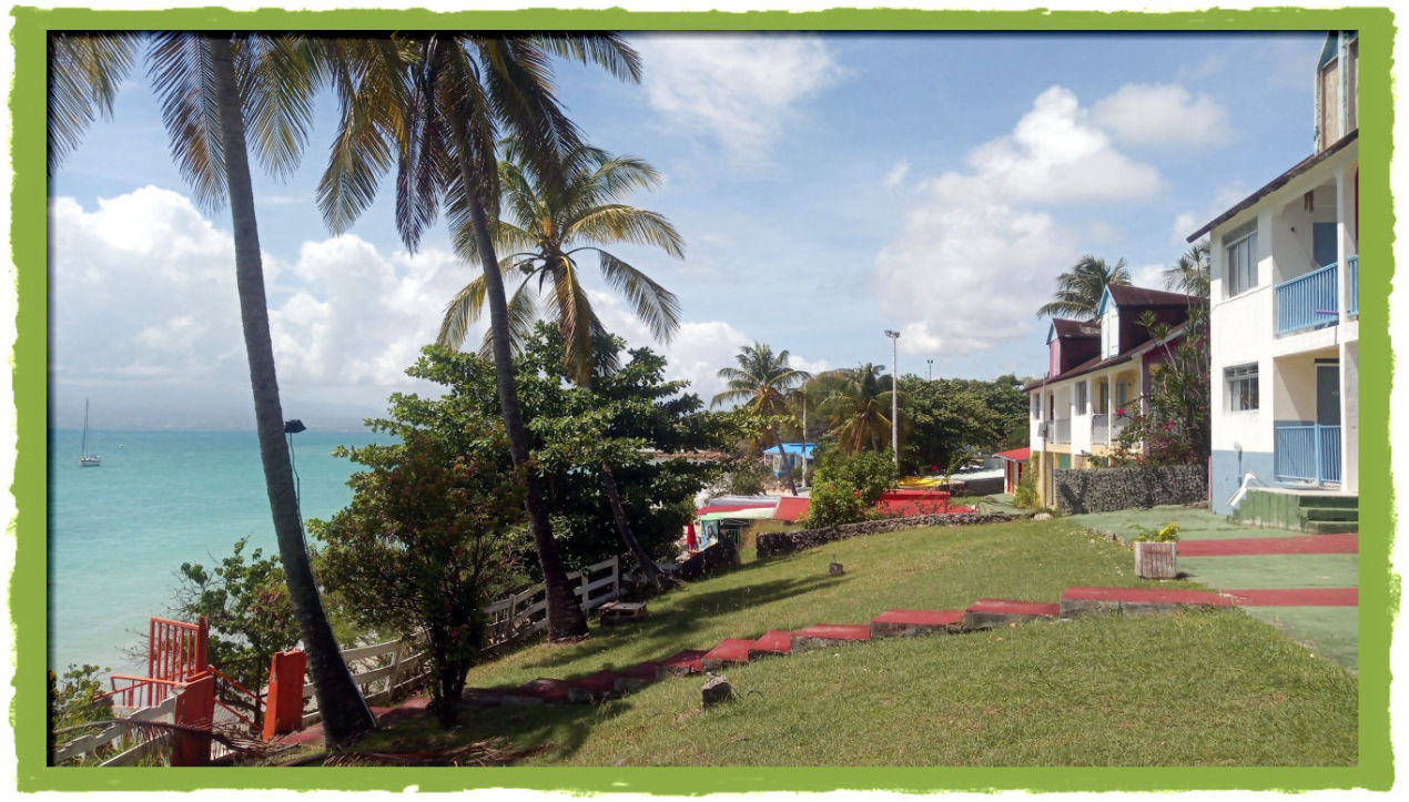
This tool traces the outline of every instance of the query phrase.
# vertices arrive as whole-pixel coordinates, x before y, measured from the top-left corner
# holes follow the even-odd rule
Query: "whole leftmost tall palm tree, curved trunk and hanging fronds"
[[[51,171],[93,120],[94,110],[110,114],[137,44],[130,35],[54,35],[51,70],[63,75],[51,82],[49,127],[59,132],[58,147],[51,138]],[[159,32],[151,37],[148,73],[161,100],[172,156],[196,202],[210,211],[230,202],[240,316],[279,558],[317,685],[324,737],[330,746],[344,746],[375,729],[376,720],[352,684],[309,567],[283,437],[247,155],[252,142],[271,172],[292,169],[311,124],[316,69],[306,42],[293,37]]]

